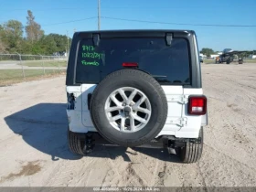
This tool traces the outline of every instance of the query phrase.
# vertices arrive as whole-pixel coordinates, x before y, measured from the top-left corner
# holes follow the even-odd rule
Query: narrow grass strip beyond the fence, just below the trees
[[[24,66],[28,67],[66,67],[67,66],[67,60],[33,60],[33,61],[22,61],[22,64]],[[20,65],[20,63],[19,63]]]

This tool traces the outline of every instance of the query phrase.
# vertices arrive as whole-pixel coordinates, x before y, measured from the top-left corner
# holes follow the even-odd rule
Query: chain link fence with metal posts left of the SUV
[[[22,80],[65,72],[68,57],[0,53],[0,80]]]

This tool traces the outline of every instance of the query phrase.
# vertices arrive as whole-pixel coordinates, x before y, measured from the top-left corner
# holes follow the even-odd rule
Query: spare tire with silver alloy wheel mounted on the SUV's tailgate
[[[101,80],[91,96],[91,120],[112,144],[137,146],[160,133],[167,118],[161,85],[144,71],[122,69]]]

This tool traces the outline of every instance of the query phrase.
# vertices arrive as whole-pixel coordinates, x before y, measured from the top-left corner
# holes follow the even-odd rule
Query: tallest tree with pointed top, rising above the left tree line
[[[35,16],[33,16],[32,11],[28,10],[27,15],[27,40],[34,43],[34,41],[39,40],[44,35],[44,31],[41,30],[41,26],[35,21]]]

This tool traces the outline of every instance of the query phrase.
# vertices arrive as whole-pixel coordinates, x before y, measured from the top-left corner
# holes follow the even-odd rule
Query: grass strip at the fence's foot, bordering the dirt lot
[[[25,78],[23,78],[22,69],[0,69],[0,86],[15,84],[29,80],[41,80],[59,75],[65,75],[66,70],[57,69],[25,69]]]

